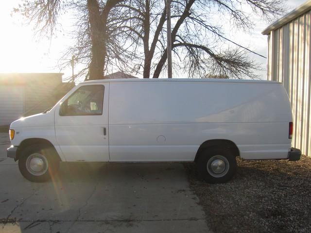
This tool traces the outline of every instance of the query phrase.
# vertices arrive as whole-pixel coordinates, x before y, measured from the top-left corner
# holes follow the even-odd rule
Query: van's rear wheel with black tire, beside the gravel
[[[237,171],[235,155],[227,148],[210,147],[198,158],[199,177],[208,183],[226,183]]]

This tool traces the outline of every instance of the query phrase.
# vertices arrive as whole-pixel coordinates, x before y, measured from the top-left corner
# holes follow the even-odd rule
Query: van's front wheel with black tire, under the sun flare
[[[34,144],[21,151],[18,168],[27,180],[45,182],[57,173],[59,162],[54,148],[48,145]]]

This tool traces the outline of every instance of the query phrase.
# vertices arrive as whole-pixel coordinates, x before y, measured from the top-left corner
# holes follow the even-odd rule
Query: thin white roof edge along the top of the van
[[[102,83],[102,82],[212,82],[212,83],[279,83],[267,80],[247,80],[247,79],[102,79],[91,80],[83,83]]]

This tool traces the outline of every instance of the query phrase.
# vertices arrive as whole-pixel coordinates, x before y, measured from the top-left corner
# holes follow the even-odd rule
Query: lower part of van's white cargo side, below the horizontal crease
[[[213,139],[234,142],[243,159],[278,159],[287,156],[291,147],[288,123],[137,124],[109,128],[113,161],[193,161],[200,145]]]

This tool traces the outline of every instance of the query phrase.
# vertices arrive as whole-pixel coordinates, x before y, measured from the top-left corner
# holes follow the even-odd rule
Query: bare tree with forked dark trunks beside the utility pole
[[[249,30],[253,23],[243,11],[249,6],[253,13],[262,18],[280,15],[284,12],[284,0],[173,0],[172,19],[172,50],[179,62],[174,62],[176,69],[183,68],[190,76],[206,77],[207,73],[229,75],[233,78],[248,76],[255,78],[254,69],[257,64],[248,58],[252,52],[236,43],[234,47],[220,50],[218,44],[232,42],[225,37],[222,29],[210,21],[211,14],[229,16],[235,28]],[[125,18],[125,33],[131,33],[135,45],[142,45],[144,59],[143,77],[158,78],[167,61],[166,48],[166,5],[158,0],[131,0],[122,4],[124,11],[131,12],[132,19]],[[131,25],[130,25],[131,24]]]

